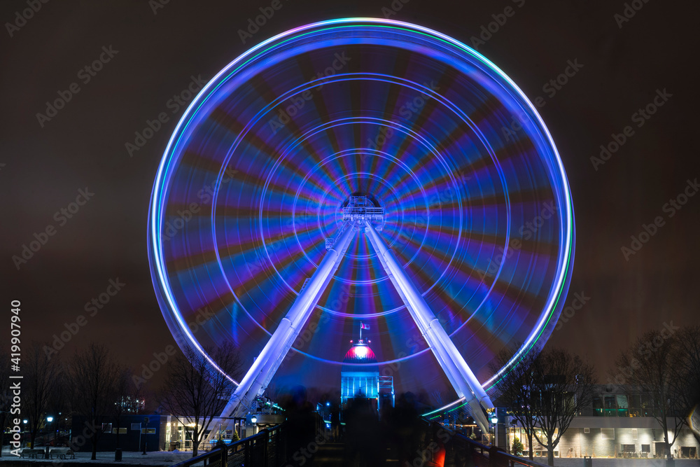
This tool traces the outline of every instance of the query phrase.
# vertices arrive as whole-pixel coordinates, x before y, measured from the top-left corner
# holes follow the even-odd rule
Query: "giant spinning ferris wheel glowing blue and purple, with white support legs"
[[[224,415],[273,379],[337,379],[361,320],[382,371],[483,427],[561,312],[573,223],[554,141],[503,71],[439,32],[349,18],[274,36],[204,87],[160,162],[148,245],[183,351],[211,371],[211,346],[248,357]]]

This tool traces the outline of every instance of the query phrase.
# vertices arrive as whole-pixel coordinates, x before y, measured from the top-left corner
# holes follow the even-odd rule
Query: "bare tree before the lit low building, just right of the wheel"
[[[573,418],[590,405],[595,385],[592,365],[562,349],[543,351],[533,363],[535,438],[547,447],[547,463],[554,466],[554,448]]]

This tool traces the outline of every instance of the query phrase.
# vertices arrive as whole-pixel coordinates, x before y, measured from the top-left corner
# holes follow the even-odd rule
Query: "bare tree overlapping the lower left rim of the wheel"
[[[207,353],[228,375],[235,377],[241,371],[240,354],[230,344]],[[168,364],[164,387],[160,395],[162,406],[181,424],[193,424],[192,456],[195,457],[211,422],[228,403],[234,389],[232,382],[221,372],[211,370],[203,356],[193,356],[190,362],[179,354]]]

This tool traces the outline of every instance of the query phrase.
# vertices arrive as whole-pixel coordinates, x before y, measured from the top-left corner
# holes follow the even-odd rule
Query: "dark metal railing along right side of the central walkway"
[[[435,440],[444,449],[444,466],[467,467],[547,467],[542,463],[514,456],[456,433],[437,422],[430,424],[426,440]]]

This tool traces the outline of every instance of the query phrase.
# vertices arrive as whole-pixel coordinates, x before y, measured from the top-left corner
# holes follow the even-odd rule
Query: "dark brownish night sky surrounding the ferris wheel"
[[[87,314],[85,326],[60,352],[68,356],[95,340],[139,368],[174,344],[153,293],[146,251],[155,172],[184,110],[172,97],[193,77],[208,81],[269,36],[329,18],[383,17],[382,7],[391,2],[283,0],[245,44],[238,30],[269,2],[172,0],[154,12],[156,1],[55,0],[26,22],[18,20],[28,3],[0,6],[3,306],[8,311],[10,300],[21,300],[25,342],[52,340],[65,323],[86,314],[85,304],[106,292],[111,280],[119,281],[120,291],[94,316]],[[645,330],[699,321],[700,195],[680,209],[666,203],[686,189],[700,189],[687,188],[700,177],[700,4],[632,3],[641,8],[630,6],[631,18],[624,18],[623,1],[408,0],[391,16],[471,46],[492,15],[514,7],[478,50],[531,100],[541,96],[545,103],[540,115],[568,172],[576,215],[567,302],[574,293],[589,298],[549,342],[588,356],[601,377]],[[101,55],[102,70],[80,72]],[[572,63],[577,71],[566,85],[545,87]],[[50,120],[37,118],[46,113],[45,102],[71,83],[79,91],[64,109]],[[657,98],[663,104],[654,115],[640,116],[638,110],[657,96],[665,97]],[[130,156],[125,143],[163,111],[169,121]],[[626,142],[608,160],[591,161],[628,125]],[[83,204],[76,212],[61,214],[76,200]],[[657,216],[655,234],[625,258],[621,248],[631,248],[631,235]],[[47,228],[55,228],[54,235],[18,270],[13,256]]]

